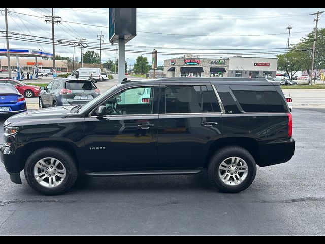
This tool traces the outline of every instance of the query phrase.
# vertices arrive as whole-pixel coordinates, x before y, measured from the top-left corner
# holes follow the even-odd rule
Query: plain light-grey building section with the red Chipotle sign
[[[228,77],[276,77],[277,58],[229,57]]]

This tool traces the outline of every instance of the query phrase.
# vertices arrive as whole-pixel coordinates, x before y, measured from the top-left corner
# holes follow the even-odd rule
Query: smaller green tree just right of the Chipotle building
[[[289,78],[292,79],[294,74],[301,69],[302,62],[299,53],[288,52],[285,54],[277,55],[278,70],[285,70]]]

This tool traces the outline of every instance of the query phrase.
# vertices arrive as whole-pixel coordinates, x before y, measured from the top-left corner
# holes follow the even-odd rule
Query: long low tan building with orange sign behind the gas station
[[[11,69],[17,69],[16,58],[10,58]],[[53,69],[53,60],[38,59],[38,68],[42,69]],[[55,60],[56,72],[67,72],[68,64],[66,60]],[[35,58],[19,58],[19,67],[23,68],[24,71],[32,71],[35,68]],[[8,69],[7,58],[0,59],[0,69]]]

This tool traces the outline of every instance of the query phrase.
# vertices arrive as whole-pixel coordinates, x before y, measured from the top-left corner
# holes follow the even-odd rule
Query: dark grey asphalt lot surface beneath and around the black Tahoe
[[[0,167],[0,235],[323,235],[325,109],[293,116],[293,159],[258,168],[238,194],[218,192],[202,172],[89,176],[64,195],[43,196],[23,173],[23,184],[13,184]]]

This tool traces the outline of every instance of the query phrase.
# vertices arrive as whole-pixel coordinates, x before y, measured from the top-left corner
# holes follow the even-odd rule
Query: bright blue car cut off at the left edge
[[[27,111],[26,101],[15,86],[0,83],[0,114],[21,113]]]

